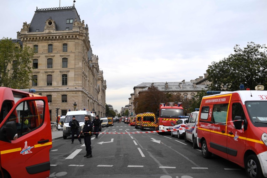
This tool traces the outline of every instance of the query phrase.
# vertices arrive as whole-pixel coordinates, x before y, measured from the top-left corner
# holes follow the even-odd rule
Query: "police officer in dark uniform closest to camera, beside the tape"
[[[84,116],[84,127],[81,131],[84,135],[84,144],[85,144],[85,150],[86,154],[83,157],[86,158],[92,158],[92,148],[91,148],[91,134],[89,133],[92,130],[93,124],[91,123],[91,120],[89,119],[88,115]]]

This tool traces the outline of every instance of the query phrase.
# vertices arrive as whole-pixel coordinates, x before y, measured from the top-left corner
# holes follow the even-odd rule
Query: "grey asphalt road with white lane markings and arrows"
[[[92,136],[92,158],[82,144],[71,137],[56,139],[50,151],[50,177],[152,177],[152,178],[244,178],[243,168],[213,155],[204,159],[192,143],[157,133],[143,132],[124,123],[102,128],[98,139]],[[127,133],[127,134],[120,134]]]

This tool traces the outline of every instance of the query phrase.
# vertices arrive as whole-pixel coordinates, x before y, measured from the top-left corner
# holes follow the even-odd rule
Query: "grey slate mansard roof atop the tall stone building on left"
[[[66,30],[66,27],[69,27],[69,30],[72,30],[73,24],[66,24],[67,19],[73,19],[74,22],[76,18],[78,22],[81,21],[74,6],[44,9],[36,8],[30,23],[29,32],[36,32],[36,29],[39,29],[39,32],[43,32],[45,21],[50,17],[55,21],[57,31]]]

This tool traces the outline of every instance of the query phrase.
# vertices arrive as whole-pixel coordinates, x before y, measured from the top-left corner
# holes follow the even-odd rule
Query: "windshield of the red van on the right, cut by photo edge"
[[[267,101],[246,102],[249,118],[256,127],[267,127]]]

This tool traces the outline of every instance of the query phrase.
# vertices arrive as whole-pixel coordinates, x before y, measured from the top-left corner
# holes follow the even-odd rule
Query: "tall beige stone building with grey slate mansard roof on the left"
[[[88,25],[75,5],[38,9],[30,24],[17,32],[23,46],[34,49],[31,88],[47,96],[50,118],[67,111],[89,109],[106,112],[106,81],[92,53]]]

